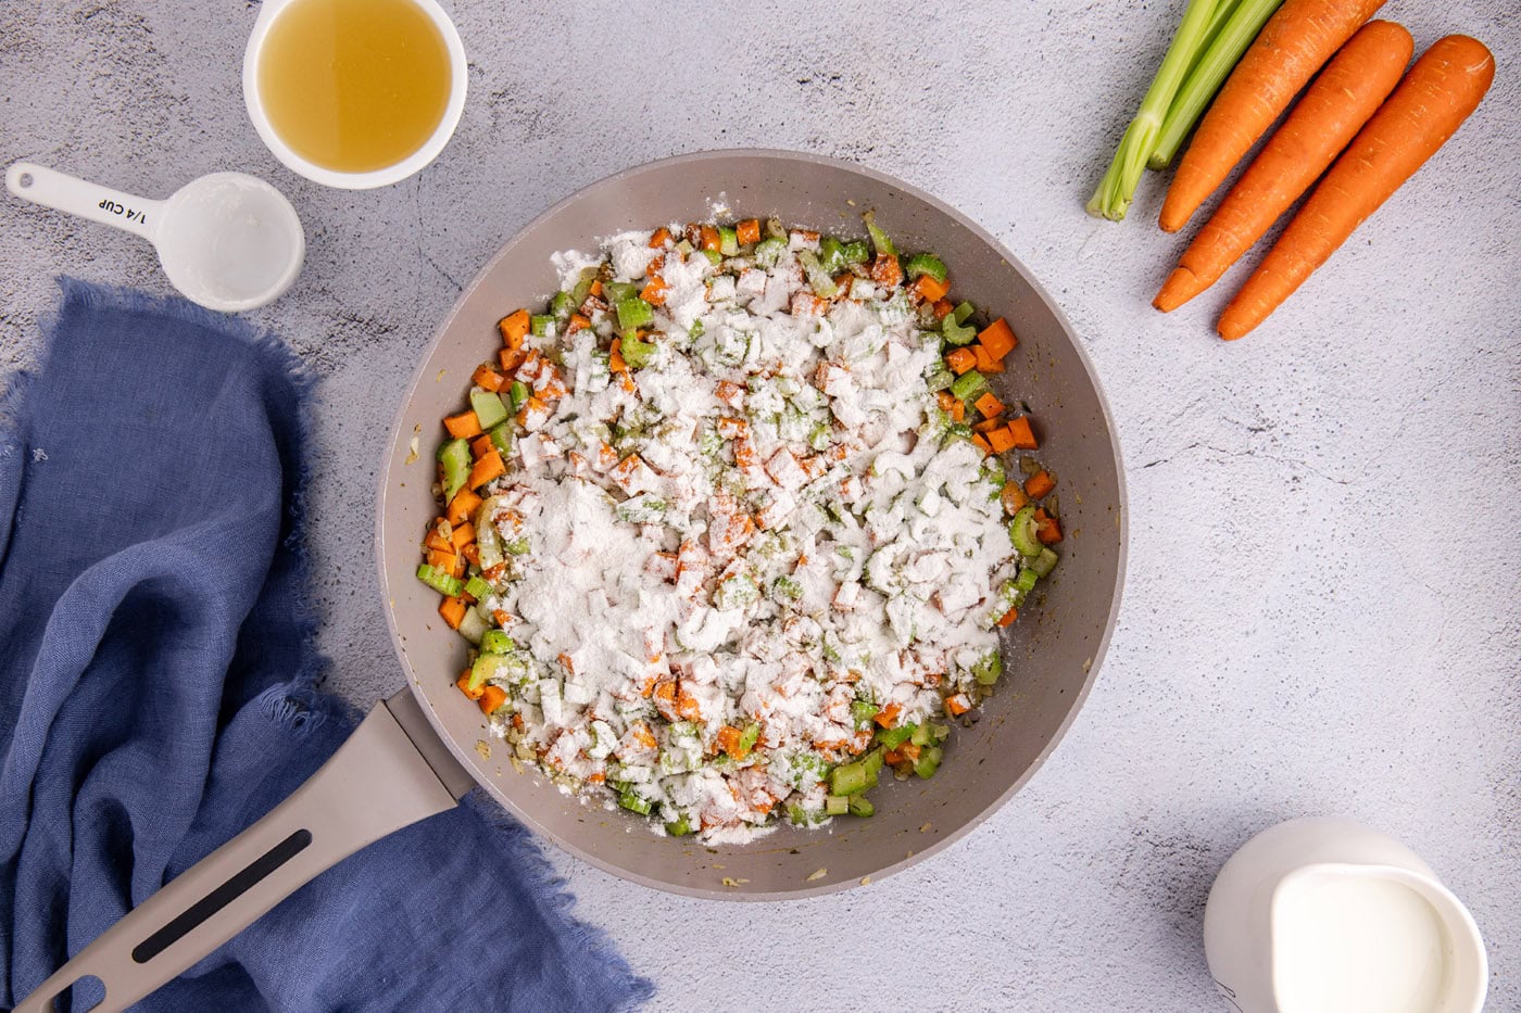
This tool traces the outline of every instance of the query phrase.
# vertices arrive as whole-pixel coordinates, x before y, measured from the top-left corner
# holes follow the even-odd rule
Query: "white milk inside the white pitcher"
[[[1453,945],[1402,882],[1317,870],[1273,903],[1273,990],[1282,1013],[1440,1013]]]

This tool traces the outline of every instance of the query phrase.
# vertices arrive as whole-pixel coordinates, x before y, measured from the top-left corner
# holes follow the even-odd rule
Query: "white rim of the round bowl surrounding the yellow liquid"
[[[248,119],[254,122],[254,129],[259,131],[259,137],[265,141],[265,146],[274,152],[275,158],[284,163],[286,169],[295,172],[297,175],[303,175],[315,183],[344,190],[370,190],[373,187],[400,183],[437,158],[438,152],[444,149],[444,144],[447,144],[449,138],[453,135],[455,126],[459,125],[459,114],[465,108],[467,78],[464,43],[459,41],[459,32],[455,29],[455,23],[449,20],[449,15],[438,6],[438,2],[412,0],[412,3],[432,18],[438,32],[444,38],[444,47],[449,50],[449,103],[444,106],[444,117],[438,122],[438,128],[421,148],[394,166],[374,169],[371,172],[335,172],[333,169],[325,169],[310,163],[295,154],[269,123],[269,116],[265,113],[263,97],[259,94],[259,56],[263,52],[265,40],[269,38],[269,29],[274,26],[280,14],[294,2],[295,0],[265,0],[263,9],[259,12],[259,20],[254,21],[254,30],[248,37],[248,49],[243,50],[243,103],[248,106]]]

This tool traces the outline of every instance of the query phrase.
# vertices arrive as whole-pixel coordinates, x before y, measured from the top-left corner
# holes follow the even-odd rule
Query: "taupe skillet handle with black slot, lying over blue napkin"
[[[105,999],[91,1007],[97,1013],[137,1002],[322,870],[453,809],[472,783],[403,689],[376,704],[289,799],[102,932],[15,1013],[55,1010],[61,993],[87,975],[105,986]]]

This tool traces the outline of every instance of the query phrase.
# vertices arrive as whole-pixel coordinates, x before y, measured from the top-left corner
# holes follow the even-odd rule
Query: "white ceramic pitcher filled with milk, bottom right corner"
[[[1349,820],[1243,844],[1209,891],[1205,955],[1237,1013],[1478,1013],[1489,990],[1468,908],[1408,847]]]

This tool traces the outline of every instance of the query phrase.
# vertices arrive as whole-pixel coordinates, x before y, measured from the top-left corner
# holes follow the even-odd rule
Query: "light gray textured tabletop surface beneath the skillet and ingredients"
[[[955,6],[955,5],[954,5]],[[1199,928],[1252,832],[1338,812],[1468,902],[1491,1008],[1521,1007],[1521,21],[1509,0],[1395,0],[1424,47],[1488,41],[1460,134],[1256,335],[1147,301],[1180,242],[1081,211],[1182,9],[1144,5],[455,5],[470,100],[438,163],[342,193],[248,125],[257,8],[0,8],[0,158],[166,196],[242,169],[281,187],[304,275],[252,313],[324,377],[312,532],[333,684],[399,684],[376,599],[377,459],[462,283],[549,202],[627,164],[764,144],[948,199],[1045,280],[1107,386],[1130,472],[1129,592],[1046,768],[943,856],[821,900],[675,899],[555,855],[659,1008],[1215,1008]],[[52,275],[167,291],[138,240],[5,198],[0,367],[37,351]]]

